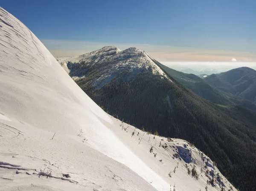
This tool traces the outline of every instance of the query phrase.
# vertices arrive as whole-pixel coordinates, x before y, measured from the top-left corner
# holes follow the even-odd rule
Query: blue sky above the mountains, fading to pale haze
[[[150,47],[149,52],[160,46],[160,52],[166,46],[169,52],[177,47],[176,52],[186,48],[211,55],[224,50],[239,52],[243,61],[256,60],[256,0],[2,0],[0,6],[54,55],[134,45]]]

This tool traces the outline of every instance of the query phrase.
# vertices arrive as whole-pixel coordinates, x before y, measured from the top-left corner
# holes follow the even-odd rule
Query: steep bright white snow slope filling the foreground
[[[198,180],[187,173],[193,165]],[[105,113],[0,8],[0,190],[203,191],[207,170],[216,178],[218,169],[187,142]],[[218,183],[208,190],[220,190]]]

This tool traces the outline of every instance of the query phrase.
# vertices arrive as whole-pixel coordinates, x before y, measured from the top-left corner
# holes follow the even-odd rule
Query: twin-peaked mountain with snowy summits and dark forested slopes
[[[256,171],[256,118],[247,109],[201,98],[136,48],[107,46],[57,60],[111,115],[155,134],[188,140],[240,190],[254,188],[255,175],[248,172]],[[188,78],[204,82],[194,75]]]

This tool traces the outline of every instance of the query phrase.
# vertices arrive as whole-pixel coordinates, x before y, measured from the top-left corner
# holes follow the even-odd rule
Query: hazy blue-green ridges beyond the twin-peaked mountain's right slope
[[[178,72],[160,63],[158,65],[175,80],[189,88],[189,90],[214,104],[239,105],[256,112],[256,86],[254,85],[256,82],[254,79],[256,71],[254,69],[242,67],[220,74],[204,75],[205,77],[202,76],[203,78],[200,78],[194,74]],[[233,86],[228,81],[225,81],[225,79],[231,79],[230,75],[236,75],[236,78],[239,79],[234,83],[242,81],[243,84],[247,84],[247,86],[244,86],[243,92],[237,92],[237,86]],[[233,79],[230,80],[231,83],[233,83]]]

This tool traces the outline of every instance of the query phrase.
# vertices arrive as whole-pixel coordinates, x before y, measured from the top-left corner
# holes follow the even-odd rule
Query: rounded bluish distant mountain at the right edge
[[[204,80],[226,95],[233,95],[256,103],[256,70],[241,67],[209,75]]]

